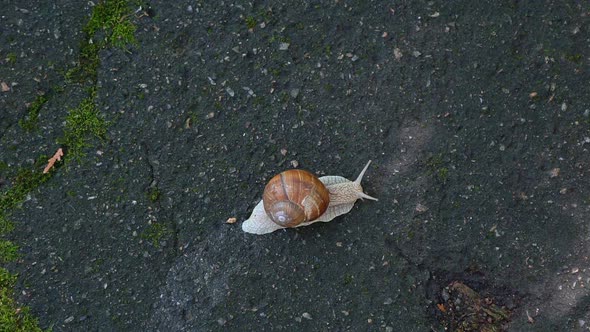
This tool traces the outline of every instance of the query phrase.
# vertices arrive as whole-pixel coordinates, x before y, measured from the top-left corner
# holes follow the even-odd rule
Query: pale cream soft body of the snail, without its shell
[[[371,199],[371,200],[377,200],[374,197],[371,197],[367,194],[365,194],[363,192],[363,188],[361,186],[361,180],[363,179],[363,176],[365,174],[365,172],[367,171],[367,169],[369,168],[369,165],[371,164],[371,161],[369,160],[369,162],[367,163],[367,165],[365,166],[365,168],[361,171],[361,173],[359,174],[359,176],[357,177],[357,179],[355,181],[350,181],[342,176],[322,176],[320,178],[315,178],[315,176],[309,172],[305,172],[309,175],[311,175],[312,178],[319,180],[319,182],[321,182],[325,188],[328,191],[328,195],[329,195],[329,203],[328,203],[328,207],[325,209],[325,211],[323,211],[322,213],[320,213],[320,215],[318,217],[315,217],[315,214],[309,214],[305,217],[305,219],[300,222],[300,223],[294,223],[291,224],[289,223],[289,225],[293,225],[293,226],[288,226],[288,225],[282,225],[281,223],[277,223],[275,221],[273,221],[270,217],[270,214],[267,214],[267,210],[265,210],[265,200],[266,200],[266,188],[265,188],[265,194],[264,194],[264,199],[262,201],[260,201],[256,207],[254,207],[254,210],[252,211],[252,215],[250,216],[250,218],[248,218],[248,220],[244,221],[242,223],[242,230],[244,232],[247,233],[253,233],[253,234],[266,234],[266,233],[271,233],[276,231],[277,229],[281,229],[281,228],[286,228],[286,227],[301,227],[301,226],[307,226],[310,224],[313,224],[315,222],[328,222],[331,221],[332,219],[336,218],[339,215],[348,213],[352,207],[354,206],[354,203],[360,198],[366,198],[366,199]],[[297,172],[300,172],[300,170],[294,170]],[[291,172],[291,171],[287,171],[287,172]],[[280,174],[279,174],[280,175]],[[276,178],[277,176],[275,176],[273,179],[271,179],[270,183]],[[280,179],[280,178],[279,178]],[[280,180],[278,180],[280,181]],[[268,187],[268,185],[267,185]],[[318,188],[319,185],[316,185],[316,188]],[[279,186],[280,188],[280,186]],[[317,194],[312,194],[311,197],[316,197]],[[310,195],[308,195],[307,197],[310,197]],[[308,198],[310,199],[310,198]],[[301,206],[303,206],[303,211],[305,211],[306,206],[308,210],[315,210],[315,205],[310,203],[311,201],[308,201],[307,199],[305,199],[305,203]],[[299,206],[299,207],[301,207]],[[321,209],[319,209],[321,210]]]

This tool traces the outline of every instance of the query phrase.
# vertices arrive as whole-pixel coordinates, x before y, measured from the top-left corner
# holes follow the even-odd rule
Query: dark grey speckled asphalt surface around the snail
[[[60,147],[84,94],[52,87],[91,6],[0,6],[11,169]],[[460,281],[512,313],[501,329],[588,329],[587,1],[149,6],[133,8],[138,45],[100,53],[107,139],[12,212],[9,268],[42,327],[442,331],[437,304]],[[28,133],[39,93],[52,97]],[[354,179],[369,159],[378,202],[242,232],[293,161]]]

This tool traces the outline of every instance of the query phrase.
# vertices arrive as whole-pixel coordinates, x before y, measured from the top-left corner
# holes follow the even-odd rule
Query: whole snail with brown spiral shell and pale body
[[[342,176],[316,177],[300,169],[292,169],[273,177],[260,203],[250,218],[242,223],[246,233],[266,234],[282,228],[328,222],[348,213],[359,198],[377,200],[363,192],[361,180],[369,168],[367,163],[354,181]]]

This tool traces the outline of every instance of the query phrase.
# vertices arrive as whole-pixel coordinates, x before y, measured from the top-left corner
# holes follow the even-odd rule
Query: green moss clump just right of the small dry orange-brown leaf
[[[84,149],[90,146],[91,139],[106,137],[108,123],[96,108],[95,99],[96,90],[92,89],[89,97],[77,108],[68,111],[63,137],[58,140],[67,148],[68,160],[80,160],[85,155]]]

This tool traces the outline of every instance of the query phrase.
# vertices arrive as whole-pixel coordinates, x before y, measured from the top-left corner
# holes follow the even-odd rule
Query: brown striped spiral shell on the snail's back
[[[270,179],[262,201],[273,222],[283,227],[295,227],[321,216],[330,203],[330,192],[315,175],[292,169]]]

